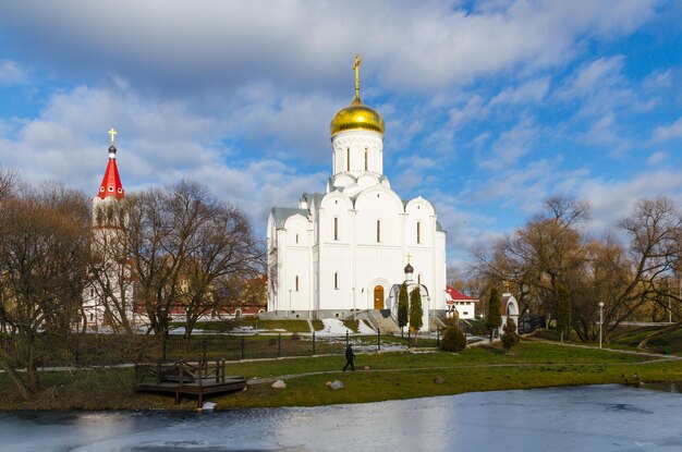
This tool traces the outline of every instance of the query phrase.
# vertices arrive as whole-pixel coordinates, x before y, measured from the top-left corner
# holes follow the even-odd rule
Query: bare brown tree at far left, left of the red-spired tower
[[[54,184],[0,200],[0,323],[13,345],[0,349],[0,367],[24,399],[40,390],[40,338],[62,341],[77,319],[88,218],[85,195]]]

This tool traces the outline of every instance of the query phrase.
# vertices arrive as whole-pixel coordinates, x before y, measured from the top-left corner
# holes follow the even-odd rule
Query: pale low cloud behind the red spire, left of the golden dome
[[[53,179],[95,194],[107,164],[110,126],[119,130],[117,160],[129,193],[195,180],[248,209],[255,227],[264,229],[270,207],[295,205],[302,192],[325,186],[327,174],[300,174],[266,156],[233,161],[232,150],[220,142],[221,122],[182,102],[86,87],[52,96],[37,119],[4,122],[0,162],[28,182]]]

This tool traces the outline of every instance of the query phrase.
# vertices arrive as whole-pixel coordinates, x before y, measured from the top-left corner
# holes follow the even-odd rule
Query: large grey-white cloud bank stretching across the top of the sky
[[[577,3],[466,10],[449,1],[26,0],[3,5],[0,23],[64,72],[118,74],[167,89],[264,78],[350,88],[352,56],[360,52],[363,70],[385,84],[433,91],[500,71],[561,64],[577,40],[631,33],[655,11],[643,1]]]

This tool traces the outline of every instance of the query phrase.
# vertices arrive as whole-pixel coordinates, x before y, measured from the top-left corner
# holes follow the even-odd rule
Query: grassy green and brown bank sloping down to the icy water
[[[251,380],[247,390],[210,398],[218,410],[318,406],[379,402],[463,392],[557,386],[624,383],[682,379],[682,359],[650,354],[600,351],[541,342],[523,342],[512,355],[498,345],[459,354],[437,351],[358,354],[355,372],[342,372],[341,356],[231,363],[228,372]],[[367,368],[366,368],[367,367]],[[442,382],[436,382],[441,377]],[[270,382],[283,379],[285,389]],[[330,390],[327,381],[344,388]],[[440,380],[440,379],[439,379]],[[194,399],[133,392],[132,369],[94,369],[44,374],[46,389],[34,400],[19,400],[0,376],[0,410],[194,410]]]

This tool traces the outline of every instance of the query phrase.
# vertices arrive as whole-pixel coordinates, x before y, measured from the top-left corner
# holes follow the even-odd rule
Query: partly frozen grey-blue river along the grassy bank
[[[682,451],[682,394],[598,386],[227,413],[0,414],[0,451]]]

